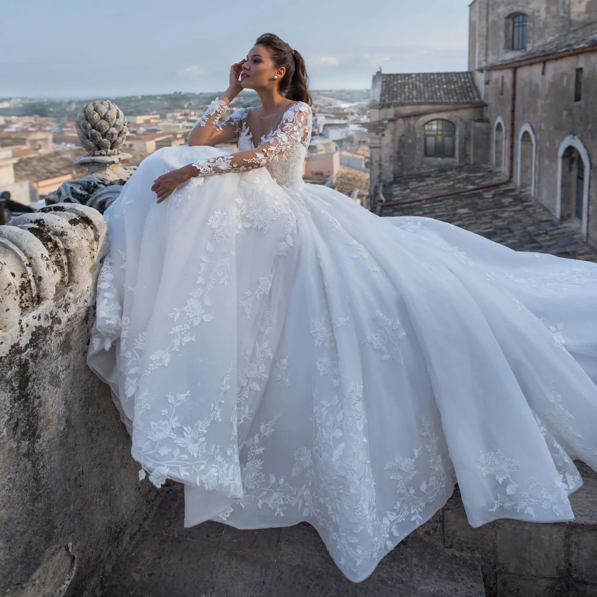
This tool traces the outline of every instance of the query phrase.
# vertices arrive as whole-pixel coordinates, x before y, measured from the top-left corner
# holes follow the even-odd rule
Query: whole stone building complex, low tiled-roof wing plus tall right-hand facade
[[[368,125],[373,201],[381,183],[405,174],[487,163],[528,189],[553,217],[576,223],[597,247],[597,218],[590,217],[597,202],[590,101],[597,99],[597,2],[473,0],[469,72],[445,73],[438,85],[450,87],[456,75],[475,82],[479,106],[429,114],[454,124],[460,143],[457,156],[437,156],[435,163],[424,153],[427,116],[408,126],[401,118],[404,100],[413,97],[410,85],[429,75],[374,75]]]

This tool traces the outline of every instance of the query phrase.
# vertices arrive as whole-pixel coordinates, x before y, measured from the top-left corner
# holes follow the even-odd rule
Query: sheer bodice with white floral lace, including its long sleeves
[[[214,124],[221,113],[217,110],[218,99],[213,103],[214,106],[205,111],[208,116],[214,115],[210,124]],[[236,110],[214,127],[214,132],[219,133],[215,139],[219,142],[237,139],[239,151],[193,163],[199,170],[199,176],[265,167],[276,183],[285,189],[304,184],[302,169],[312,128],[309,104],[297,101],[288,107],[278,127],[261,137],[257,147],[247,126],[247,113],[245,108]],[[202,119],[198,124],[203,124]]]

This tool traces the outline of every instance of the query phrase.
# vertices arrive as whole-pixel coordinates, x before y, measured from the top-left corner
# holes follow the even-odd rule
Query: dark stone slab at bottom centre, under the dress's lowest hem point
[[[239,531],[185,529],[184,493],[170,485],[96,597],[483,597],[479,558],[414,533],[361,583],[347,580],[311,525]],[[429,531],[429,529],[427,529]]]

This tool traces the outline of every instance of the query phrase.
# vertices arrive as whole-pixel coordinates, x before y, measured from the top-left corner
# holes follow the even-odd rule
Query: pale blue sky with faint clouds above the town
[[[0,97],[216,92],[261,33],[306,61],[313,89],[386,73],[467,70],[470,0],[4,0]]]

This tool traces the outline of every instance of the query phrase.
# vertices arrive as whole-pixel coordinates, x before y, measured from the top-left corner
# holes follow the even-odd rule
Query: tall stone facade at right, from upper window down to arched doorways
[[[597,220],[589,217],[597,202],[591,181],[597,159],[591,101],[597,98],[597,5],[587,3],[581,11],[580,4],[475,0],[471,22],[479,41],[471,43],[470,57],[488,104],[490,163],[529,189],[556,219],[575,222],[584,240],[597,247]],[[506,49],[503,24],[514,11],[528,15],[527,51]]]

